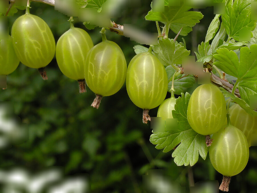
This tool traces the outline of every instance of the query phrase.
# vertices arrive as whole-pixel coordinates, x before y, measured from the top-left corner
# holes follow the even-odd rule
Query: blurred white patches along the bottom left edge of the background
[[[0,170],[0,183],[3,193],[87,193],[90,189],[87,178],[74,176],[63,180],[58,169],[35,175],[22,168],[13,168],[9,172]]]

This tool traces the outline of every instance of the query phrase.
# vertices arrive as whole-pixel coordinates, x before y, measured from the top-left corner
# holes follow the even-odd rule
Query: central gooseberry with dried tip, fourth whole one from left
[[[159,106],[166,97],[168,77],[164,66],[148,52],[135,55],[128,64],[126,77],[127,93],[130,100],[143,109],[143,123],[150,121],[148,112]]]

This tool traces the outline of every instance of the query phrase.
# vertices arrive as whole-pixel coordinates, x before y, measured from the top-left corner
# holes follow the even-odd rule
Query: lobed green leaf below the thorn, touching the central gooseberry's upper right
[[[171,64],[182,64],[182,58],[188,56],[190,51],[184,49],[179,43],[175,51],[175,43],[171,39],[159,38],[158,45],[153,45],[152,50],[164,66]],[[175,53],[174,53],[175,51]]]

